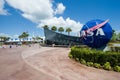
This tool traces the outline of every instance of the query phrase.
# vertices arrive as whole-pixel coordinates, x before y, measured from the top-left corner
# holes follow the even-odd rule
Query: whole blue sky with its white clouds
[[[0,35],[44,37],[44,25],[70,27],[76,35],[93,19],[109,19],[120,31],[120,0],[0,0]]]

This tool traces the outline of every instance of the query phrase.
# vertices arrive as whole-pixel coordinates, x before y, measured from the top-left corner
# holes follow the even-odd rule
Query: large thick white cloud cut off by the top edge
[[[50,0],[6,0],[15,9],[22,12],[22,16],[33,21],[53,17],[52,2]]]

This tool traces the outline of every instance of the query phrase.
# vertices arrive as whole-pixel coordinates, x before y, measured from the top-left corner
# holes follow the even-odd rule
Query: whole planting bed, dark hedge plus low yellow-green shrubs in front
[[[87,66],[120,72],[120,52],[72,47],[69,57]]]

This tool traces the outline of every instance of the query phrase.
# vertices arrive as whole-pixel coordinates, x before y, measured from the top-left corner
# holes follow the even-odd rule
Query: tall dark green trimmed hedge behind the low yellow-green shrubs
[[[119,52],[103,52],[99,50],[93,50],[89,48],[71,48],[71,55],[74,59],[84,59],[86,62],[99,63],[104,65],[106,62],[110,62],[111,66],[120,66],[120,53]]]

